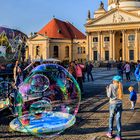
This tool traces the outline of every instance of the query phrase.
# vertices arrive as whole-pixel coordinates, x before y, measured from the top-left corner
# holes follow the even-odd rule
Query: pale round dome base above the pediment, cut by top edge
[[[135,10],[140,8],[140,0],[108,0],[108,10],[116,7],[116,2],[119,1],[119,7],[124,10]]]

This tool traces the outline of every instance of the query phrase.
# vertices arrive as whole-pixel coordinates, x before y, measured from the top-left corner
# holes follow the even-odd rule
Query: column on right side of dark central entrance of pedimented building
[[[126,60],[126,46],[125,46],[125,30],[122,31],[122,60],[125,61]]]

